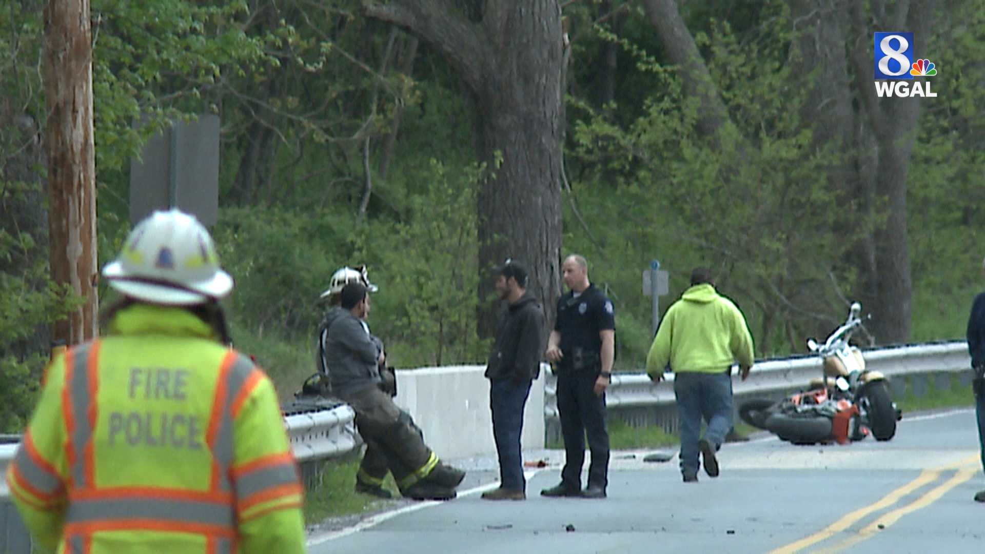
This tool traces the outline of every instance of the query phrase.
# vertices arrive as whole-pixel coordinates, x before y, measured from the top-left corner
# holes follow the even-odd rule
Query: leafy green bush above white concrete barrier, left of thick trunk
[[[409,199],[406,219],[375,223],[365,239],[384,272],[373,306],[385,319],[374,332],[390,337],[390,359],[402,367],[475,363],[488,353],[475,325],[482,173],[454,174],[432,160],[427,190]]]

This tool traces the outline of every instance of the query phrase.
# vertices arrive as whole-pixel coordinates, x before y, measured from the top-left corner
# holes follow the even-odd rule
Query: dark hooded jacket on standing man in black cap
[[[530,293],[524,293],[499,315],[486,377],[513,381],[537,379],[545,342],[544,309]]]

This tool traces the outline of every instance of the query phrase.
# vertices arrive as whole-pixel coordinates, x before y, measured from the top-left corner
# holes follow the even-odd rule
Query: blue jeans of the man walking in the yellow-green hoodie
[[[721,448],[732,429],[732,377],[721,372],[675,374],[674,395],[681,423],[681,472],[696,475],[701,419],[708,423],[704,439],[715,450]]]

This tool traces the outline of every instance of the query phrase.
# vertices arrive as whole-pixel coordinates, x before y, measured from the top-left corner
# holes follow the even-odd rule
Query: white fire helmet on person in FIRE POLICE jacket
[[[154,212],[137,224],[102,276],[120,293],[154,304],[204,304],[232,290],[209,232],[177,209]]]

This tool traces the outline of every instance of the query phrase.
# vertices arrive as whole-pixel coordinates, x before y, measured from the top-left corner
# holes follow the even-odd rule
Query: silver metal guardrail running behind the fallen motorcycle
[[[905,381],[893,378],[935,374],[947,378],[947,386],[950,387],[950,376],[965,374],[970,377],[971,359],[965,341],[864,350],[862,356],[867,369],[882,372],[889,378],[896,396],[905,392]],[[738,397],[776,396],[806,386],[812,379],[820,377],[821,359],[805,355],[758,362],[749,379],[734,380],[733,383]],[[645,373],[615,374],[606,392],[606,406],[610,411],[621,414],[630,424],[657,424],[668,432],[674,432],[677,429],[674,375],[667,374],[665,378],[655,383]],[[557,383],[557,378],[549,373],[544,398],[549,440],[559,437]],[[943,382],[938,387],[941,384]],[[926,388],[926,383],[921,387]],[[917,395],[922,395],[922,392],[917,390]]]

